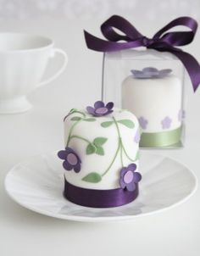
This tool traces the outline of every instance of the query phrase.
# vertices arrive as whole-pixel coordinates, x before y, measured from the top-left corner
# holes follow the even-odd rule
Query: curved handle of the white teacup
[[[53,81],[54,79],[56,79],[61,73],[64,72],[64,69],[66,68],[66,65],[68,64],[68,56],[67,56],[67,53],[64,52],[64,50],[59,49],[59,48],[53,48],[52,51],[53,51],[53,53],[52,53],[51,57],[54,58],[56,53],[60,53],[64,57],[64,63],[61,66],[61,68],[52,77],[49,77],[45,81],[40,82],[37,86],[44,86],[44,85],[50,83],[51,81]]]

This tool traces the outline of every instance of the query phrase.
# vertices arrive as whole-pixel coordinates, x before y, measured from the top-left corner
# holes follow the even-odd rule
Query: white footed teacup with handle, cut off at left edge
[[[26,96],[64,71],[67,54],[53,46],[53,41],[43,36],[0,33],[0,114],[31,109]],[[55,53],[63,55],[64,63],[52,77],[42,81],[48,60]]]

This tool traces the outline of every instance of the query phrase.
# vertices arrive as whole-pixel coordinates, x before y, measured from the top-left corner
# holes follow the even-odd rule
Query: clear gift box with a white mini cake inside
[[[185,68],[172,53],[131,49],[103,55],[103,101],[136,114],[140,147],[183,147],[185,81]]]

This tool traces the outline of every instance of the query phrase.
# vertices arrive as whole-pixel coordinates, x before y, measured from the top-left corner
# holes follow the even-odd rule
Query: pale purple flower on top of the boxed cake
[[[136,78],[147,79],[147,78],[163,78],[171,73],[172,70],[157,70],[153,67],[147,67],[143,70],[131,70],[132,75]]]

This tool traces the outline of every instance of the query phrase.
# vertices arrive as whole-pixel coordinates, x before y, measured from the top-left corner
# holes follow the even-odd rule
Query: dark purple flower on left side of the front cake
[[[66,147],[65,150],[61,150],[58,152],[58,158],[63,159],[64,163],[64,169],[65,170],[75,170],[75,172],[80,172],[81,170],[81,159],[75,153],[75,151],[70,148]]]

